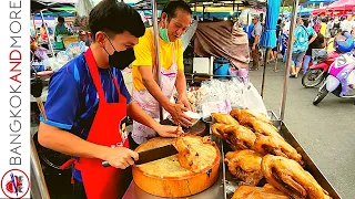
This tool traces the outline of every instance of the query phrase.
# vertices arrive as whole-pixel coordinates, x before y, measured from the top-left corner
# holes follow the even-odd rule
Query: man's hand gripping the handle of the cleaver
[[[139,159],[138,153],[125,148],[125,147],[115,147],[115,148],[108,148],[104,159],[109,161],[112,167],[125,169],[131,165],[134,165],[134,160]]]

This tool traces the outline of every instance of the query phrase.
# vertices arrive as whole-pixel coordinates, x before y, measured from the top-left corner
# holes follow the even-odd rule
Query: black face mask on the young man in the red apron
[[[109,38],[108,38],[109,39]],[[111,41],[109,40],[111,43]],[[111,43],[111,46],[113,48],[114,52],[113,54],[109,54],[105,48],[103,48],[106,53],[109,54],[109,64],[110,66],[116,67],[119,70],[124,70],[128,67],[134,60],[134,51],[133,49],[126,49],[125,51],[116,51],[114,46]]]

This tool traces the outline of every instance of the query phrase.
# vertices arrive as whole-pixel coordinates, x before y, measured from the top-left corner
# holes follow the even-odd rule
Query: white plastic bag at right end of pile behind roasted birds
[[[243,100],[246,108],[267,115],[263,98],[252,83],[245,84],[243,88]]]

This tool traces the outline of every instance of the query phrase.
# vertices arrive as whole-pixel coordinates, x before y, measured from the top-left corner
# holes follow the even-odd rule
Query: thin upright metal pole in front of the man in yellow
[[[159,27],[158,27],[158,4],[155,0],[151,0],[153,9],[153,30],[154,30],[154,40],[155,40],[155,57],[156,57],[156,74],[158,74],[158,84],[161,86],[161,65],[160,65],[160,45],[159,45]],[[160,106],[160,122],[163,122],[163,107]]]

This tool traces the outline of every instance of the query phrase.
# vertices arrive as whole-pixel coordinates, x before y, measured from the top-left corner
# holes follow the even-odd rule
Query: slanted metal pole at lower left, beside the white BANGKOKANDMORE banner
[[[33,199],[50,199],[36,145],[31,138],[31,196]]]

